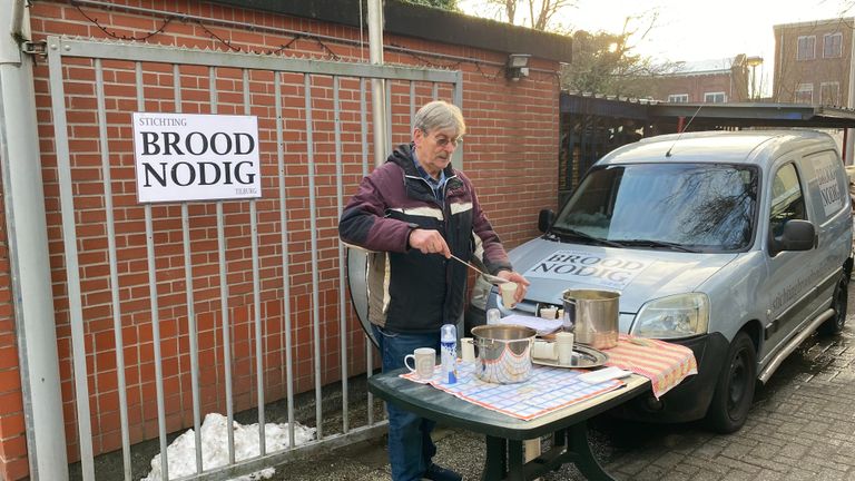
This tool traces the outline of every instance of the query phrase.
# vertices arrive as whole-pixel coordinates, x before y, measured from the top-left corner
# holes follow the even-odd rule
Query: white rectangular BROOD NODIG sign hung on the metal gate
[[[262,196],[255,116],[134,112],[140,204]]]

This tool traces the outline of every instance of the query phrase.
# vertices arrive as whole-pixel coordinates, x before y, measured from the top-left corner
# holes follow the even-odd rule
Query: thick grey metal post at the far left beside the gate
[[[68,480],[26,0],[0,7],[0,169],[32,480]]]

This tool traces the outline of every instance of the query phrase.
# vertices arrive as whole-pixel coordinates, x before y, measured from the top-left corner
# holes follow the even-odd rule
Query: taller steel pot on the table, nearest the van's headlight
[[[576,342],[593,349],[618,345],[618,313],[620,293],[596,289],[567,289],[564,325],[571,326]]]

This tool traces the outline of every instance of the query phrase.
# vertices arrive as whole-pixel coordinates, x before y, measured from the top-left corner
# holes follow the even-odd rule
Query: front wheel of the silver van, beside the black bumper
[[[727,434],[745,424],[754,400],[757,381],[757,353],[748,334],[739,332],[721,366],[716,391],[707,410],[707,424],[715,431]]]

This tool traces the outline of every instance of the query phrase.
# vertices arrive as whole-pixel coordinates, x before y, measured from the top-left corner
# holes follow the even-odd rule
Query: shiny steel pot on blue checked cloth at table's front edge
[[[473,327],[475,375],[495,384],[527,381],[531,377],[531,346],[537,334],[531,327],[512,324]]]

